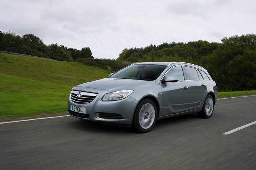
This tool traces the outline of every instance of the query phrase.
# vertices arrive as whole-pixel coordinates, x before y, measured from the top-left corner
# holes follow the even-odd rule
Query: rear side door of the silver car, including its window
[[[184,66],[186,76],[189,82],[189,101],[188,110],[197,109],[201,104],[203,105],[203,98],[206,91],[206,83],[199,73],[198,69]]]

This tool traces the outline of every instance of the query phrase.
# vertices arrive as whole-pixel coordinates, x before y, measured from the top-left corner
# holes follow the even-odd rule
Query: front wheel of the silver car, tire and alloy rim
[[[139,133],[149,132],[156,123],[157,109],[150,99],[142,100],[136,107],[132,127]]]

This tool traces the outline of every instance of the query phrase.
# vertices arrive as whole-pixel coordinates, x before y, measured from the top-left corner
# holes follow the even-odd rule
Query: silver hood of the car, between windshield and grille
[[[87,87],[93,89],[101,89],[107,91],[119,91],[119,90],[133,90],[134,88],[140,88],[146,86],[146,84],[156,84],[156,81],[145,81],[136,79],[120,79],[120,78],[104,78],[88,83],[80,84],[76,87]]]

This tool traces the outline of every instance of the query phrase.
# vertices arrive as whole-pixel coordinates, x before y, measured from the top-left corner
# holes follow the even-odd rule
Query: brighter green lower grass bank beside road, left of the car
[[[0,118],[65,113],[72,86],[0,73]]]

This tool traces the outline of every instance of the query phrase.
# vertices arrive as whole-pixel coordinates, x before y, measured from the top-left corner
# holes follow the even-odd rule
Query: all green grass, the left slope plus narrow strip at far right
[[[79,62],[0,53],[0,118],[65,113],[73,86],[110,73]],[[219,92],[218,96],[252,94],[256,91]]]

